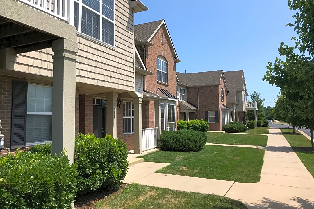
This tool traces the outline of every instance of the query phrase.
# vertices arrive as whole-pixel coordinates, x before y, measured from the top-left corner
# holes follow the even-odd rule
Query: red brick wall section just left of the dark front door
[[[79,132],[93,133],[93,96],[79,95]]]

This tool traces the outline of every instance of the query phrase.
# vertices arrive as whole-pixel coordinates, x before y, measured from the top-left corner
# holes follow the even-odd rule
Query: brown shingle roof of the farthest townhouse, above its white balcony
[[[236,101],[236,92],[243,89],[243,71],[225,71],[224,76],[229,89],[229,94],[226,98],[226,102],[233,103]]]

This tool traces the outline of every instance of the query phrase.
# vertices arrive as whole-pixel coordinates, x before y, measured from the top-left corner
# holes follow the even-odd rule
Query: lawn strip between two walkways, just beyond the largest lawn
[[[266,146],[268,136],[254,134],[206,132],[207,143]]]

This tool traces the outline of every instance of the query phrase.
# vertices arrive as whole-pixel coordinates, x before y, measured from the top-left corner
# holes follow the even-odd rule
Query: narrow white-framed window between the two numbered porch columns
[[[123,133],[134,133],[133,102],[123,102]]]

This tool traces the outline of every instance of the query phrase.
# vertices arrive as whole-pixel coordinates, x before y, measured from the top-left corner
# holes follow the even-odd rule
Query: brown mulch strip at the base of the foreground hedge
[[[79,197],[74,202],[75,209],[94,209],[94,203],[105,200],[107,197],[119,194],[127,184],[122,184],[117,191],[95,191],[88,193],[85,196]]]

